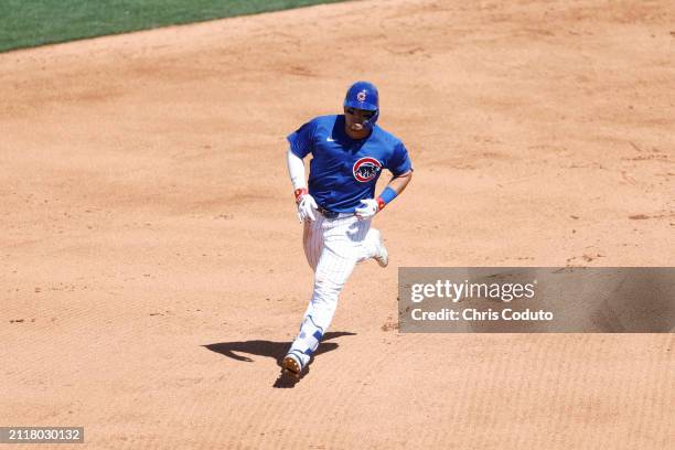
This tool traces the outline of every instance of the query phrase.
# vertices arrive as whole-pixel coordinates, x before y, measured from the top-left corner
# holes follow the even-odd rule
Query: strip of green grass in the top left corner
[[[0,0],[0,52],[341,0]]]

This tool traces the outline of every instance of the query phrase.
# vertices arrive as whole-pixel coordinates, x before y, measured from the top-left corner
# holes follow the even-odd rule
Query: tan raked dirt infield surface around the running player
[[[476,3],[0,55],[0,425],[93,449],[673,448],[672,334],[396,331],[398,266],[675,266],[672,3]],[[389,267],[357,267],[277,388],[312,280],[285,136],[360,78],[415,178],[376,218]]]

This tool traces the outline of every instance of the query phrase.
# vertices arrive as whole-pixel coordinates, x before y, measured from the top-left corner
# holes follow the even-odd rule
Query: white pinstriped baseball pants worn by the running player
[[[300,333],[289,353],[306,365],[319,346],[338,308],[340,291],[354,266],[377,251],[377,237],[371,219],[341,214],[326,218],[317,212],[317,219],[304,223],[302,244],[307,261],[314,271],[314,291],[304,312]]]

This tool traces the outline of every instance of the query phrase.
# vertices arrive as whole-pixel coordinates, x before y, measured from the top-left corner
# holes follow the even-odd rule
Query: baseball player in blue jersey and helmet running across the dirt
[[[388,264],[381,233],[371,221],[403,192],[413,178],[408,151],[376,125],[377,88],[356,82],[344,98],[344,114],[317,117],[287,139],[288,171],[298,217],[304,223],[304,255],[314,271],[314,291],[281,366],[299,376],[328,330],[338,298],[356,262],[368,258]],[[302,159],[309,153],[309,189]],[[394,175],[375,196],[383,169]]]

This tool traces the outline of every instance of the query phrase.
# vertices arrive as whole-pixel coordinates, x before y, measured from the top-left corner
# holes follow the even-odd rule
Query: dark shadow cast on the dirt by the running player
[[[312,357],[319,356],[323,353],[331,352],[338,349],[340,345],[335,342],[329,342],[341,336],[353,336],[356,333],[346,331],[329,331],[323,335],[321,345],[317,349],[317,353]],[[272,357],[277,362],[278,366],[281,366],[281,360],[286,356],[286,352],[290,347],[290,342],[272,342],[272,341],[235,341],[235,342],[218,342],[216,344],[206,344],[204,347],[212,352],[219,353],[224,356],[231,357],[236,361],[251,363],[253,360],[246,355],[239,353],[248,353],[249,355],[267,356]],[[288,374],[281,374],[274,384],[274,387],[293,387],[296,383],[302,379],[309,373],[309,365],[304,367],[300,377],[289,376]]]

